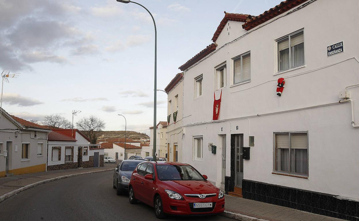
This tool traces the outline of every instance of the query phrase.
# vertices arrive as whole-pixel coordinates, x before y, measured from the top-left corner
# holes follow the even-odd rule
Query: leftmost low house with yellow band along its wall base
[[[4,109],[0,118],[0,177],[46,170],[47,134],[51,130]]]

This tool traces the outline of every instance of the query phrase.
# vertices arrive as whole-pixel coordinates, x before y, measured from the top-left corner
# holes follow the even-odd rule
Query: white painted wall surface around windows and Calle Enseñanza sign
[[[253,135],[255,146],[251,147],[251,159],[244,161],[244,179],[359,198],[359,171],[353,169],[359,167],[359,129],[351,126],[349,103],[250,117],[250,124],[247,119],[229,120],[336,102],[340,100],[339,92],[345,87],[359,84],[358,57],[353,58],[359,54],[356,38],[359,29],[353,28],[359,24],[358,2],[343,1],[337,7],[334,0],[314,1],[283,18],[272,19],[275,21],[252,29],[250,33],[246,31],[246,36],[187,69],[184,74],[183,115],[189,117],[183,119],[183,161],[207,174],[209,180],[219,187],[222,177],[221,149],[217,149],[217,154],[211,154],[208,143],[220,146],[219,134],[227,134],[226,157],[230,159],[230,134],[243,133],[244,146],[248,146],[248,136]],[[318,13],[333,8],[337,16]],[[343,20],[346,22],[343,23]],[[277,75],[275,40],[302,28],[305,66]],[[225,41],[221,34],[217,40],[219,45],[224,44],[222,40]],[[341,41],[344,42],[344,53],[327,57],[327,46]],[[251,82],[231,86],[232,58],[247,51],[251,51]],[[214,123],[211,120],[214,67],[222,62],[227,62],[227,87],[222,91],[219,120],[227,121]],[[203,95],[195,99],[194,78],[200,74],[204,76]],[[291,77],[293,75],[298,76]],[[279,77],[285,78],[281,97],[276,95],[276,80]],[[349,91],[354,100],[355,122],[359,122],[359,87]],[[216,91],[217,97],[219,94],[220,91]],[[193,125],[198,122],[205,124]],[[222,127],[223,131],[220,131]],[[308,131],[308,179],[272,174],[273,133],[278,131]],[[204,136],[202,161],[193,159],[195,135]],[[230,176],[230,160],[226,162],[226,175]]]

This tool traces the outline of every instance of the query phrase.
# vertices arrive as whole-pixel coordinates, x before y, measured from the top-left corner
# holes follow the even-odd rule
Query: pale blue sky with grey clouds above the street
[[[223,11],[258,15],[280,0],[138,0],[158,33],[157,87],[211,43]],[[149,14],[116,0],[0,0],[0,69],[20,72],[4,83],[3,108],[24,119],[57,113],[96,115],[106,130],[145,131],[153,124],[154,31]],[[157,120],[167,96],[157,95]]]

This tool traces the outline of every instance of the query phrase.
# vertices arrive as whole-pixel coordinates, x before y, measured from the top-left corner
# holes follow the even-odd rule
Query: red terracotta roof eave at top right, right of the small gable
[[[266,21],[285,13],[286,11],[289,11],[290,9],[297,7],[298,5],[306,2],[308,0],[286,0],[282,1],[279,5],[274,6],[273,8],[265,11],[264,13],[258,15],[258,16],[250,16],[249,20],[246,21],[242,25],[242,27],[246,30],[250,30],[254,27],[257,27],[258,25],[265,23]]]

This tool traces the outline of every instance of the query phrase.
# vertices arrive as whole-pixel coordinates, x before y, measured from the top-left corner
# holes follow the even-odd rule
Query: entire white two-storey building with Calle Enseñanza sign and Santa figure
[[[353,218],[325,205],[359,199],[358,5],[226,13],[214,43],[180,67],[183,162],[227,193]]]

